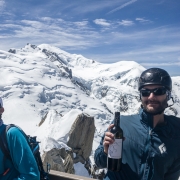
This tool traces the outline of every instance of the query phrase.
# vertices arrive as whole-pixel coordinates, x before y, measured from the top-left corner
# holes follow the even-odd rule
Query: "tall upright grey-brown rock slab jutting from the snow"
[[[89,158],[92,151],[95,125],[94,117],[88,114],[80,114],[74,121],[69,132],[67,145],[76,153],[74,163],[84,162]]]

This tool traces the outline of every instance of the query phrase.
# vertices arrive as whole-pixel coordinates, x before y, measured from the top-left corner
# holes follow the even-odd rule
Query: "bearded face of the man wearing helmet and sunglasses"
[[[145,90],[152,90],[156,88],[161,88],[159,85],[148,85],[144,86]],[[140,91],[141,92],[141,91]],[[144,97],[141,93],[141,101],[144,109],[151,114],[158,114],[159,112],[164,111],[167,107],[167,97],[166,93],[163,95],[154,95],[153,92],[149,96]]]

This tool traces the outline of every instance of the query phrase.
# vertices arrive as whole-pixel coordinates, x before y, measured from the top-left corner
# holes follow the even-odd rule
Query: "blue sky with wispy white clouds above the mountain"
[[[180,76],[180,1],[0,0],[0,49],[27,43]]]

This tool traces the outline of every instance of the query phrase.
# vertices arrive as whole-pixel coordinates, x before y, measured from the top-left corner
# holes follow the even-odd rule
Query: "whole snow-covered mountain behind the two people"
[[[116,109],[136,114],[140,108],[137,80],[145,68],[133,61],[102,64],[47,44],[27,44],[0,51],[0,67],[4,122],[36,134],[42,150],[67,147],[70,127],[82,112],[95,118],[94,150]],[[175,104],[166,113],[180,117],[180,77],[172,79]]]

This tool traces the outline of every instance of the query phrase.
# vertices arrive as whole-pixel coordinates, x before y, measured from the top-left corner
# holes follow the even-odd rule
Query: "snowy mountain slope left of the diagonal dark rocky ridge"
[[[16,54],[0,53],[3,77],[0,95],[4,101],[6,123],[14,122],[32,133],[49,109],[56,110],[61,116],[71,109],[92,115],[99,111],[98,114],[109,116],[101,102],[89,98],[66,77],[64,69],[54,65],[39,48],[27,45],[16,50]]]

